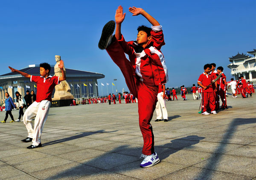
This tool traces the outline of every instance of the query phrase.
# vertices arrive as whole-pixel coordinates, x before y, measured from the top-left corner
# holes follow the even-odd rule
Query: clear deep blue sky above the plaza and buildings
[[[55,64],[61,55],[65,67],[103,73],[98,84],[117,78],[121,91],[125,80],[105,50],[98,48],[102,27],[114,20],[116,8],[126,12],[122,34],[136,39],[137,26],[150,26],[142,16],[132,17],[130,6],[141,7],[163,26],[162,47],[169,70],[167,87],[196,84],[206,63],[224,67],[230,79],[229,57],[256,49],[255,0],[155,0],[146,1],[1,1],[0,74],[28,64]],[[111,90],[112,87],[108,87]],[[106,86],[103,93],[106,93]],[[101,94],[101,87],[99,87]]]

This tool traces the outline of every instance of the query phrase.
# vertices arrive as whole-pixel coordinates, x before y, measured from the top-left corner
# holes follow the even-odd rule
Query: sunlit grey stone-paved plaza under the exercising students
[[[23,123],[9,117],[0,123],[0,179],[256,180],[256,94],[229,96],[229,108],[209,116],[198,114],[201,100],[178,98],[166,102],[169,122],[154,122],[154,113],[161,162],[150,168],[140,168],[137,104],[51,108],[43,146],[32,150],[20,142],[27,136]]]

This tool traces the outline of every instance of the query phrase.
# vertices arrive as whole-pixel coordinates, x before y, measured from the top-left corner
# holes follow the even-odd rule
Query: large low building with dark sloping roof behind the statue
[[[70,85],[71,93],[74,98],[99,96],[98,86],[96,86],[96,84],[98,84],[97,79],[104,78],[105,75],[82,70],[65,69],[66,81]],[[40,75],[39,70],[39,65],[32,64],[24,67],[20,71],[30,75]],[[51,65],[50,75],[54,75],[54,65]],[[34,92],[37,93],[36,84],[30,82],[29,78],[25,78],[22,75],[13,72],[0,75],[0,104],[4,103],[5,92],[8,92],[16,102],[15,92],[18,91],[22,96],[25,96],[26,90],[34,90]],[[55,90],[52,93],[52,97],[54,92]]]

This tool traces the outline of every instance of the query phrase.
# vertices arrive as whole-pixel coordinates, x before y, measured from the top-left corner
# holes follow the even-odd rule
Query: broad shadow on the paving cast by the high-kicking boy
[[[190,139],[189,137],[190,136],[183,137],[183,138]],[[185,147],[189,147],[189,146],[199,143],[200,140],[204,139],[204,137],[193,136],[193,139],[195,139],[195,140],[184,140],[182,138],[174,139],[174,140],[170,141],[170,143],[155,146],[155,150],[156,150],[157,154],[159,155],[160,160],[164,160],[166,157],[169,157],[171,154],[174,154],[175,152],[180,151],[181,149],[183,149]],[[131,171],[133,169],[138,169],[138,168],[140,168],[139,164],[140,164],[140,162],[142,162],[143,159],[140,159],[139,157],[131,156],[131,158],[129,160],[124,157],[125,155],[123,155],[126,153],[123,153],[123,154],[119,153],[119,151],[125,151],[125,152],[130,152],[130,154],[138,155],[138,150],[139,150],[138,148],[134,148],[134,147],[129,148],[128,145],[122,145],[122,146],[113,148],[112,151],[106,152],[105,154],[95,157],[89,161],[84,160],[85,161],[84,164],[78,165],[73,168],[69,168],[59,174],[48,177],[47,180],[57,180],[57,179],[64,179],[64,178],[72,179],[72,178],[76,178],[78,176],[82,177],[82,176],[86,176],[86,175],[95,173],[95,172],[88,173],[88,171],[85,171],[84,168],[86,168],[86,167],[84,167],[84,165],[90,165],[90,166],[101,168],[101,169],[111,169],[114,167],[119,167],[121,165],[139,161],[138,165],[131,164],[131,165],[122,167],[121,171]],[[142,150],[142,147],[140,148],[140,151],[141,150]],[[111,153],[111,152],[117,152],[117,153]],[[83,156],[83,154],[81,154],[81,156]],[[106,172],[106,173],[109,173],[109,172]]]

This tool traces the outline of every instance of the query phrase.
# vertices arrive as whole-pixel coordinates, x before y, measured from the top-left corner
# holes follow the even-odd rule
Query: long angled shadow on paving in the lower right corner
[[[222,154],[225,152],[225,148],[229,144],[230,139],[232,138],[234,132],[236,132],[236,129],[239,125],[247,125],[256,123],[256,119],[246,119],[246,118],[236,118],[229,124],[229,128],[226,131],[226,134],[221,139],[221,144],[218,146],[218,148],[213,152],[212,156],[207,160],[207,164],[204,166],[203,170],[198,174],[198,176],[195,178],[196,180],[205,180],[205,179],[213,179],[212,173],[215,170],[218,164],[221,161]],[[220,154],[216,156],[215,154]]]

